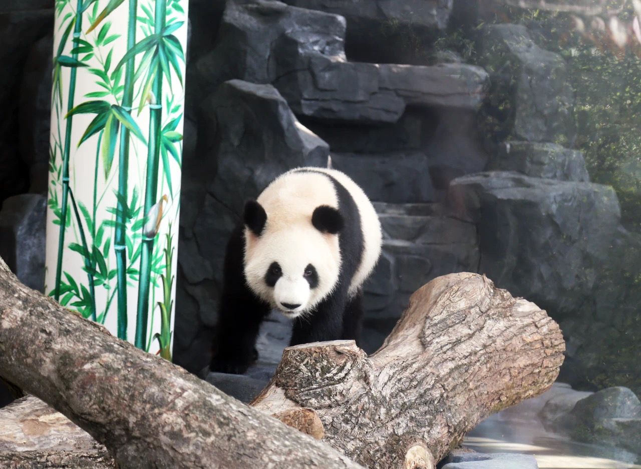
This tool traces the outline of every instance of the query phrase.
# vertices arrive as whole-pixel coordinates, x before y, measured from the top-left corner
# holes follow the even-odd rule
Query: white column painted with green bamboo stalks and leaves
[[[170,360],[187,3],[56,0],[53,51],[47,293]]]

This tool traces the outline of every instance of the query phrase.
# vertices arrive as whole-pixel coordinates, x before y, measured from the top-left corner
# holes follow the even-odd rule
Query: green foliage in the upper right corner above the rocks
[[[615,10],[618,1],[604,5]],[[631,8],[617,18],[626,24]],[[585,24],[599,17],[583,17]],[[597,19],[597,20],[595,20]],[[574,88],[578,133],[574,147],[585,155],[590,179],[613,186],[621,205],[622,223],[641,231],[641,45],[630,35],[617,47],[608,29],[578,31],[570,15],[506,8],[497,21],[521,22],[543,49],[561,54]]]

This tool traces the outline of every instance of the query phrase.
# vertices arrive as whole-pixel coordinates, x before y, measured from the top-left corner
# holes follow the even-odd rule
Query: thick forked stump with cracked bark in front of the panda
[[[540,395],[563,362],[541,309],[485,276],[426,284],[369,358],[353,341],[289,347],[252,406],[315,409],[324,441],[363,466],[433,467],[483,418]]]

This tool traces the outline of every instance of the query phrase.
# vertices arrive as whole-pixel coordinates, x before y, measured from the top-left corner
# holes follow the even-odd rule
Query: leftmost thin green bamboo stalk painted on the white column
[[[76,4],[76,20],[74,24],[74,38],[80,37],[82,27],[82,0],[78,0]],[[74,52],[71,58],[78,62],[78,52]],[[71,68],[71,78],[69,78],[69,100],[67,102],[67,110],[71,111],[74,108],[74,95],[76,94],[76,74],[77,67]],[[60,96],[62,99],[62,95]],[[69,153],[71,152],[71,129],[73,118],[67,117],[67,128],[65,131],[65,148],[62,155],[62,206],[60,211],[60,234],[58,234],[58,261],[56,263],[56,284],[54,286],[54,299],[60,299],[60,276],[62,276],[62,255],[65,248],[65,229],[67,229],[67,197],[69,193]]]

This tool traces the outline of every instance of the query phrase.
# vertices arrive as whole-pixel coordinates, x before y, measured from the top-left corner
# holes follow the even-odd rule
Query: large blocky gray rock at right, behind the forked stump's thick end
[[[479,272],[497,286],[557,318],[599,291],[620,218],[610,186],[484,172],[455,179],[449,198],[476,220]]]

